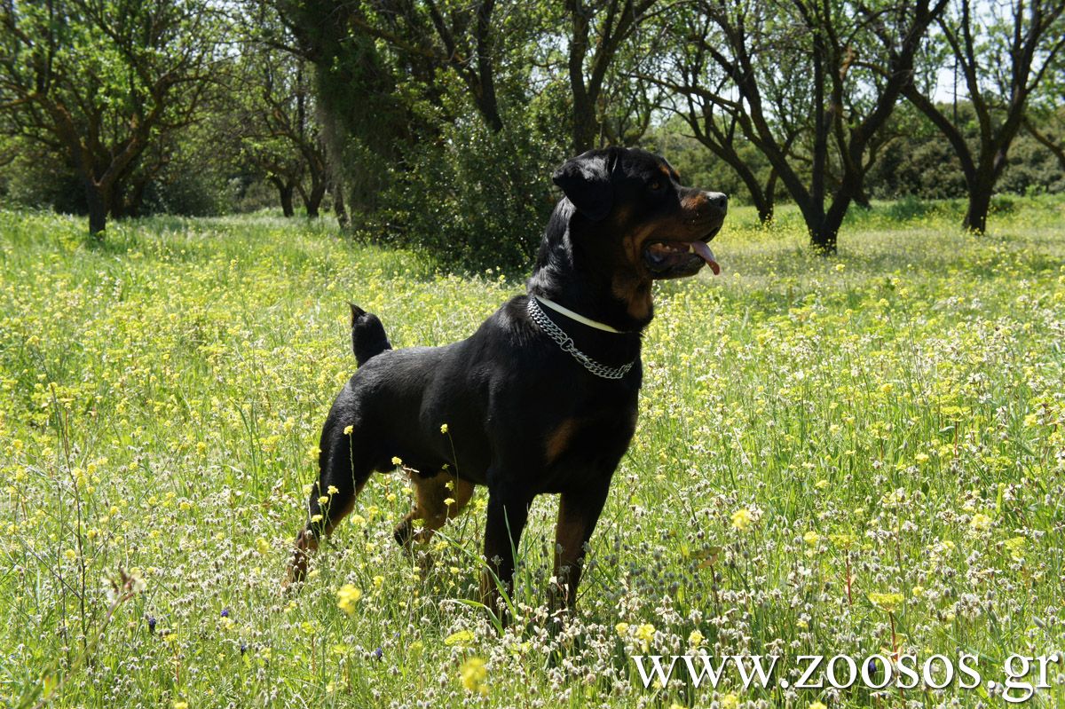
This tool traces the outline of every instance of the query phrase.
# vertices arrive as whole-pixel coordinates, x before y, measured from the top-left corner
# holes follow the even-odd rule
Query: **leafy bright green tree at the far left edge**
[[[103,231],[152,146],[201,115],[219,54],[208,0],[5,0],[0,128],[65,154]]]

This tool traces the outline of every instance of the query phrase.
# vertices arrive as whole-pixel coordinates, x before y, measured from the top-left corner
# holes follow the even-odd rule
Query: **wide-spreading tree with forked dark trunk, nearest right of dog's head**
[[[848,208],[864,198],[881,130],[946,2],[700,0],[695,12],[707,21],[700,34],[675,39],[693,43],[697,54],[674,86],[693,97],[689,116],[702,114],[704,137],[730,160],[727,131],[738,129],[758,148],[815,248],[831,253]],[[753,176],[744,182],[757,193]]]

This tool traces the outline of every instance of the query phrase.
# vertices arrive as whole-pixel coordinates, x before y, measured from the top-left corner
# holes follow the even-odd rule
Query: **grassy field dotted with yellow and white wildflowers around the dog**
[[[345,301],[435,345],[520,280],[325,222],[157,218],[95,246],[0,212],[0,706],[1006,706],[1009,656],[1065,650],[1065,202],[982,238],[956,221],[876,205],[819,259],[793,213],[737,210],[723,275],[657,290],[577,615],[541,605],[540,498],[501,636],[468,603],[484,491],[429,567],[392,541],[405,479],[376,476],[306,587],[279,582],[355,367]],[[644,688],[633,656],[686,653],[782,659],[767,688]],[[836,689],[821,665],[793,687],[799,656],[895,653],[977,655],[981,686]],[[1029,706],[1065,703],[1065,664],[1045,674]]]

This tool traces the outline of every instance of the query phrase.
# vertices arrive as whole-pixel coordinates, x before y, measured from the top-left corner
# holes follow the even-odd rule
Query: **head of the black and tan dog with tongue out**
[[[693,276],[707,264],[721,270],[707,242],[721,230],[728,198],[683,186],[663,158],[590,150],[567,161],[554,181],[573,205],[573,248],[610,274],[636,319],[650,318],[652,281]]]

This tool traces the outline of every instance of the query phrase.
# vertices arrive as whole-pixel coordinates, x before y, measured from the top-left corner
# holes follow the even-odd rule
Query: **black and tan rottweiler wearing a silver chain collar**
[[[681,186],[665,159],[592,150],[554,175],[563,197],[540,245],[528,294],[473,335],[392,349],[380,320],[353,306],[359,368],[322,431],[320,477],[296,538],[290,580],[346,515],[371,473],[415,471],[415,502],[395,529],[428,541],[488,488],[481,596],[497,603],[532,498],[559,494],[551,603],[570,607],[610,478],[636,430],[640,334],[655,280],[719,273],[707,246],[725,195]],[[498,583],[498,586],[497,586]]]

